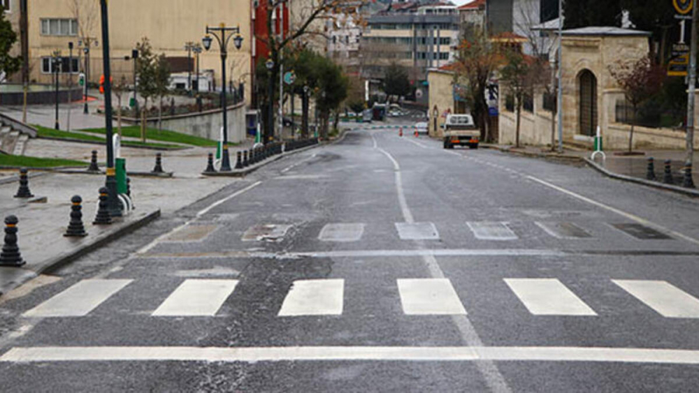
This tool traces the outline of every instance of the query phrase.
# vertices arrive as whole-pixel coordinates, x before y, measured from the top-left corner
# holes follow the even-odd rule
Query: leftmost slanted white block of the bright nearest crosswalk
[[[133,280],[82,280],[24,313],[25,317],[85,316]]]

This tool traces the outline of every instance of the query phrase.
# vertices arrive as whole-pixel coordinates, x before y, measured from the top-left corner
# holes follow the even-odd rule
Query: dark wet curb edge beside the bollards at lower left
[[[95,237],[94,239],[89,240],[85,244],[81,244],[80,246],[77,246],[69,251],[65,251],[64,253],[55,256],[54,258],[50,258],[48,260],[40,262],[36,264],[36,266],[33,269],[14,267],[12,269],[24,270],[25,272],[32,272],[34,274],[24,274],[20,277],[20,279],[10,280],[7,283],[0,282],[0,295],[10,290],[13,290],[14,288],[17,288],[18,286],[22,285],[22,283],[29,281],[30,279],[33,279],[35,276],[55,272],[60,267],[68,265],[70,262],[73,262],[74,260],[80,258],[82,255],[99,249],[101,246],[105,246],[106,244],[113,242],[116,239],[123,237],[124,235],[129,234],[130,232],[133,232],[134,230],[137,230],[138,228],[141,228],[144,225],[151,223],[159,217],[160,209],[156,209],[150,213],[143,215],[135,221],[124,223],[122,226],[120,226],[120,228],[117,228],[116,230],[103,233]],[[117,223],[112,225],[119,224]]]

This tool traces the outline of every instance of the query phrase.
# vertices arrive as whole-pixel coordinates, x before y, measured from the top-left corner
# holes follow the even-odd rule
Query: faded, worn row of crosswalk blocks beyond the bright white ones
[[[595,233],[583,225],[568,221],[534,221],[534,225],[513,225],[507,221],[468,221],[463,228],[473,234],[477,240],[506,242],[523,237],[544,236],[554,239],[584,240],[606,237],[607,229],[597,228]],[[439,240],[438,225],[431,222],[395,223],[395,234],[401,240]],[[517,228],[517,230],[513,229]],[[280,242],[291,233],[291,224],[253,225],[243,233],[243,242]],[[607,228],[624,233],[638,240],[668,240],[670,235],[637,223],[610,223]],[[322,242],[359,242],[367,231],[375,227],[367,223],[327,223],[320,230],[317,238]]]

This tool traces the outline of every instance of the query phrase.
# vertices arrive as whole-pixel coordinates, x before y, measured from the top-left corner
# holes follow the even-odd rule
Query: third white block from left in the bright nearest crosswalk
[[[284,298],[279,316],[339,316],[345,280],[297,280]]]

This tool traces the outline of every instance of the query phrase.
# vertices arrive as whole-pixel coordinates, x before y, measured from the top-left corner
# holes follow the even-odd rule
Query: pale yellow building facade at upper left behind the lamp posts
[[[16,0],[17,2],[19,0]],[[243,45],[237,50],[230,40],[226,61],[226,80],[245,84],[245,97],[250,99],[251,80],[251,3],[248,0],[113,0],[109,1],[110,58],[113,77],[125,75],[133,80],[134,62],[127,60],[136,43],[150,40],[156,54],[180,58],[187,64],[185,43],[200,43],[206,27],[239,27]],[[29,1],[29,66],[30,80],[49,83],[52,80],[50,61],[59,50],[69,57],[69,43],[74,45],[73,75],[84,71],[85,46],[90,43],[89,80],[98,82],[102,75],[102,39],[99,1],[96,0],[32,0]],[[212,70],[217,88],[221,86],[221,56],[216,40],[199,60],[201,72]],[[196,61],[192,54],[193,70]],[[64,61],[64,64],[68,64]],[[68,66],[66,66],[68,68]],[[67,70],[63,78],[67,78]]]

